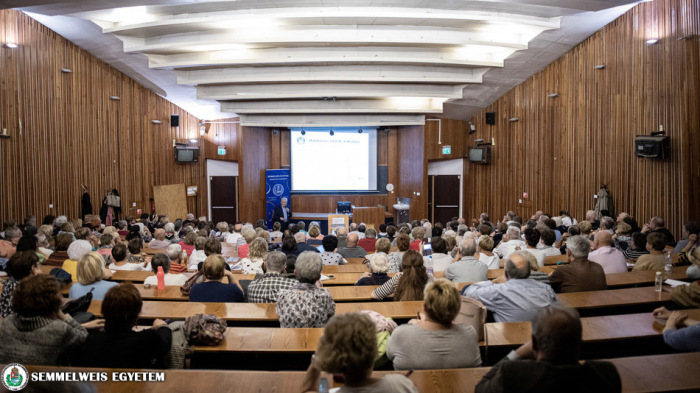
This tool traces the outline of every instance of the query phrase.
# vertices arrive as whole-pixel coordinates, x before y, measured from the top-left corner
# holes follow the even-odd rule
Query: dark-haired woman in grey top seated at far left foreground
[[[63,355],[85,341],[86,329],[102,321],[80,325],[61,311],[61,285],[48,274],[22,280],[12,296],[13,314],[0,326],[0,363],[57,366]]]

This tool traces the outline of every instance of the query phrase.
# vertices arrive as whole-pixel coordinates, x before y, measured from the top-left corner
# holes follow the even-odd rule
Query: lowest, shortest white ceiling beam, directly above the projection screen
[[[240,115],[247,127],[387,127],[424,125],[420,114]]]

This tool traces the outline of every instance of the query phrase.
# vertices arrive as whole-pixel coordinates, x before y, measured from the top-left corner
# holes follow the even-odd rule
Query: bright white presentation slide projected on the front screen
[[[292,191],[376,191],[376,129],[292,129],[290,143]]]

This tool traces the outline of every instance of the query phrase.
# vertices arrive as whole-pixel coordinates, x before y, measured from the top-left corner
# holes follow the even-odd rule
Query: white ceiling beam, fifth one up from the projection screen
[[[503,67],[501,56],[455,48],[420,47],[311,47],[222,50],[175,55],[147,55],[151,68],[204,66],[298,65],[316,63],[371,63]]]

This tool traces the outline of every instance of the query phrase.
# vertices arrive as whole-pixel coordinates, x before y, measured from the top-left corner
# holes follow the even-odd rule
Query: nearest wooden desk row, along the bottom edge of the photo
[[[698,390],[697,365],[700,353],[672,355],[637,356],[610,359],[617,368],[622,380],[623,392],[680,391]],[[30,372],[37,371],[93,371],[111,375],[114,370],[98,368],[67,368],[28,366]],[[419,392],[473,392],[476,384],[489,368],[451,370],[417,370],[410,379]],[[265,371],[216,371],[216,370],[166,370],[165,381],[143,382],[95,382],[94,386],[104,393],[171,393],[181,390],[283,392],[298,390],[304,380],[304,372],[265,372]],[[375,371],[373,377],[380,378],[396,371]],[[333,384],[332,377],[327,377]],[[32,382],[30,382],[32,383]],[[334,386],[338,386],[335,384]]]

